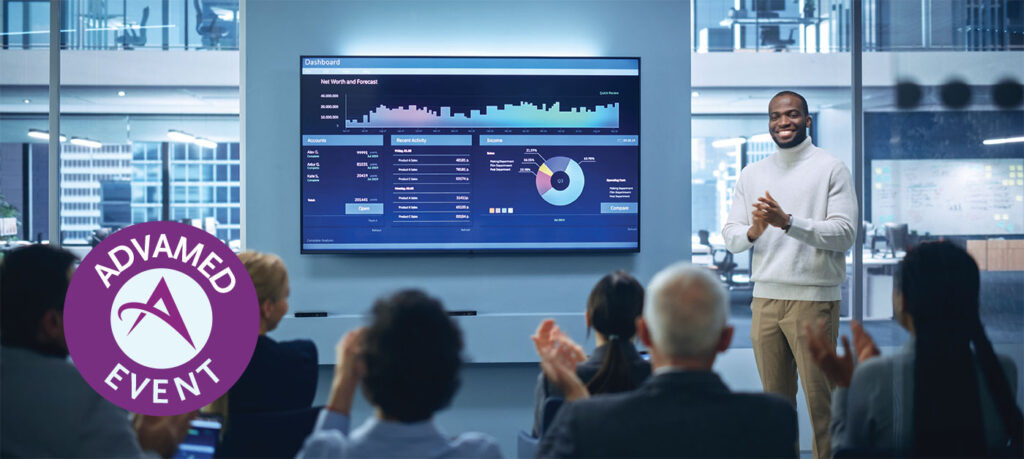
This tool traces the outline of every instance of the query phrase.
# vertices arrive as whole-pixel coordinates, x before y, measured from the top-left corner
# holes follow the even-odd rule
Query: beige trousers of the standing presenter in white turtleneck
[[[797,373],[807,399],[814,428],[815,459],[831,457],[828,420],[833,383],[814,364],[804,324],[824,322],[825,336],[835,348],[839,336],[839,301],[798,301],[754,298],[751,303],[751,341],[765,392],[777,393],[797,406]]]

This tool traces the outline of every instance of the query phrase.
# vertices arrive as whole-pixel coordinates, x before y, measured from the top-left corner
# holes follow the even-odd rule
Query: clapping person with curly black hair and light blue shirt
[[[459,387],[462,332],[441,303],[418,290],[377,300],[372,323],[338,342],[327,408],[306,439],[307,457],[501,457],[494,439],[456,437],[434,424]],[[376,415],[349,433],[355,389]]]

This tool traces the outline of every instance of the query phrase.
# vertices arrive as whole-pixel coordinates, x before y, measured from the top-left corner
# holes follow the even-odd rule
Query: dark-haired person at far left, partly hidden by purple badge
[[[193,414],[132,421],[68,361],[63,304],[74,263],[44,245],[0,261],[0,456],[172,456]]]

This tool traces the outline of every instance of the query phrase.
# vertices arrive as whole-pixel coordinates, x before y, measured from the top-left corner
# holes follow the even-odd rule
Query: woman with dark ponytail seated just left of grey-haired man
[[[633,276],[620,270],[598,281],[587,298],[587,331],[594,329],[597,347],[585,362],[577,365],[577,376],[587,383],[592,394],[633,390],[650,376],[650,364],[633,345],[636,319],[643,310],[643,286]],[[538,336],[552,339],[560,331],[553,320],[544,321]],[[562,393],[544,377],[537,379],[534,435],[541,436],[544,403]]]

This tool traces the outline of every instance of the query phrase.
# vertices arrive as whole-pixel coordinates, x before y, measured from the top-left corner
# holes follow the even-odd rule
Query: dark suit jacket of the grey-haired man
[[[652,376],[624,393],[566,404],[538,457],[796,457],[797,411],[734,393],[713,372]]]

